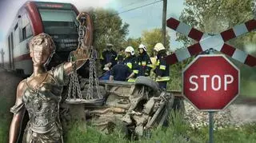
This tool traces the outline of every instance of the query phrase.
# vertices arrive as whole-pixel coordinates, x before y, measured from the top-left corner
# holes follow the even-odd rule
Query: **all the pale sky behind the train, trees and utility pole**
[[[18,9],[28,0],[0,0],[0,49],[4,46],[4,40],[6,37],[7,30],[9,30]],[[138,38],[142,35],[143,30],[150,30],[154,28],[162,27],[162,2],[159,0],[35,0],[43,2],[69,2],[74,4],[79,11],[85,10],[86,7],[103,7],[117,10],[118,13],[130,10],[119,14],[123,22],[128,23],[129,35],[131,38]],[[144,6],[147,4],[149,6]],[[184,0],[168,0],[167,2],[167,16],[179,18],[183,6]],[[136,7],[143,6],[137,10],[131,10]],[[167,32],[170,34],[170,46],[174,50],[180,46],[181,43],[175,42],[176,33],[174,30],[170,30],[166,27]],[[127,37],[127,38],[128,38]]]

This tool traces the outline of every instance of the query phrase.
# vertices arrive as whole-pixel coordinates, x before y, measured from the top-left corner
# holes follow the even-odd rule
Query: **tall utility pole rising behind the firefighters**
[[[167,0],[162,0],[162,44],[166,47],[166,10]]]

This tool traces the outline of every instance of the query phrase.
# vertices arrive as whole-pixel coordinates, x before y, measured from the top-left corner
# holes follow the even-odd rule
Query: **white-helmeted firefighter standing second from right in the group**
[[[150,56],[146,53],[146,46],[143,44],[138,46],[138,76],[150,76],[150,70],[152,69],[152,62]]]

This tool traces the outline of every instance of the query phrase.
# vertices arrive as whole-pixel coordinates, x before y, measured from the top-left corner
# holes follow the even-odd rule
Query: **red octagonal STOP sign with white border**
[[[199,55],[182,72],[182,94],[202,111],[224,109],[238,96],[240,72],[223,55]]]

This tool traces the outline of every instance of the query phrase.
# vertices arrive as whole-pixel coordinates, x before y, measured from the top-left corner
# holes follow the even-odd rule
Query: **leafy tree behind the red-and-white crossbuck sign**
[[[182,11],[180,20],[205,33],[220,33],[235,25],[254,18],[253,0],[186,0],[186,8]],[[190,46],[194,41],[183,35],[178,40]],[[244,49],[246,44],[255,44],[255,32],[230,40],[230,44]]]

